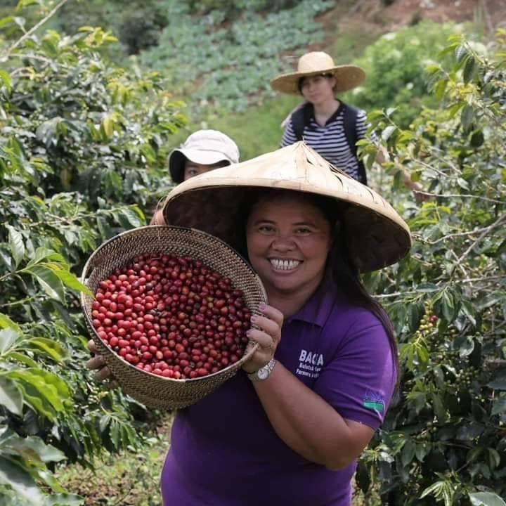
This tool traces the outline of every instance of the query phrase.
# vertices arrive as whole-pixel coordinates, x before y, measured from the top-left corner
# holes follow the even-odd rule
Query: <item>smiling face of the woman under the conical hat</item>
[[[249,261],[269,297],[309,297],[320,284],[331,244],[330,223],[304,196],[261,200],[246,226]]]

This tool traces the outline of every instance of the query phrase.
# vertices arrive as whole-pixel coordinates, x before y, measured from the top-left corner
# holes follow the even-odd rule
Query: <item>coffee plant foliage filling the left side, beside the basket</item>
[[[18,6],[22,13],[23,0]],[[11,19],[0,27],[12,28]],[[53,469],[138,447],[143,406],[91,380],[77,275],[145,224],[184,122],[155,74],[103,60],[100,28],[0,39],[0,503],[77,505]],[[136,413],[137,420],[133,414]]]

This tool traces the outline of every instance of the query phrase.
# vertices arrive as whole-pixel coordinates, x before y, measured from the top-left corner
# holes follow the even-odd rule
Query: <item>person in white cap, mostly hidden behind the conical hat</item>
[[[197,130],[180,148],[172,150],[169,171],[172,181],[179,184],[193,176],[238,162],[238,145],[229,136],[218,130]],[[161,209],[157,209],[150,224],[165,225]]]

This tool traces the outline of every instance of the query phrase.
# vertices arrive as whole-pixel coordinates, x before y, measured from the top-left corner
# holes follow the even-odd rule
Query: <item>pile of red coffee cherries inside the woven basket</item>
[[[91,307],[100,339],[163,377],[209,375],[237,362],[251,326],[243,294],[202,261],[141,255],[100,281]]]

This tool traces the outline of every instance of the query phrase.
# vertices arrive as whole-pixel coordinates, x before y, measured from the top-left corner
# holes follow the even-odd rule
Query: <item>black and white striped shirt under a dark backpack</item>
[[[357,140],[365,137],[367,129],[365,111],[359,110],[356,118]],[[358,160],[351,153],[348,141],[346,141],[346,134],[344,134],[342,103],[339,103],[336,112],[327,120],[325,126],[321,126],[316,122],[314,108],[311,108],[311,120],[309,124],[304,125],[303,139],[332,165],[342,169],[353,179],[360,179],[358,176]],[[287,145],[296,143],[298,140],[290,117],[286,122],[281,147],[284,148]]]

